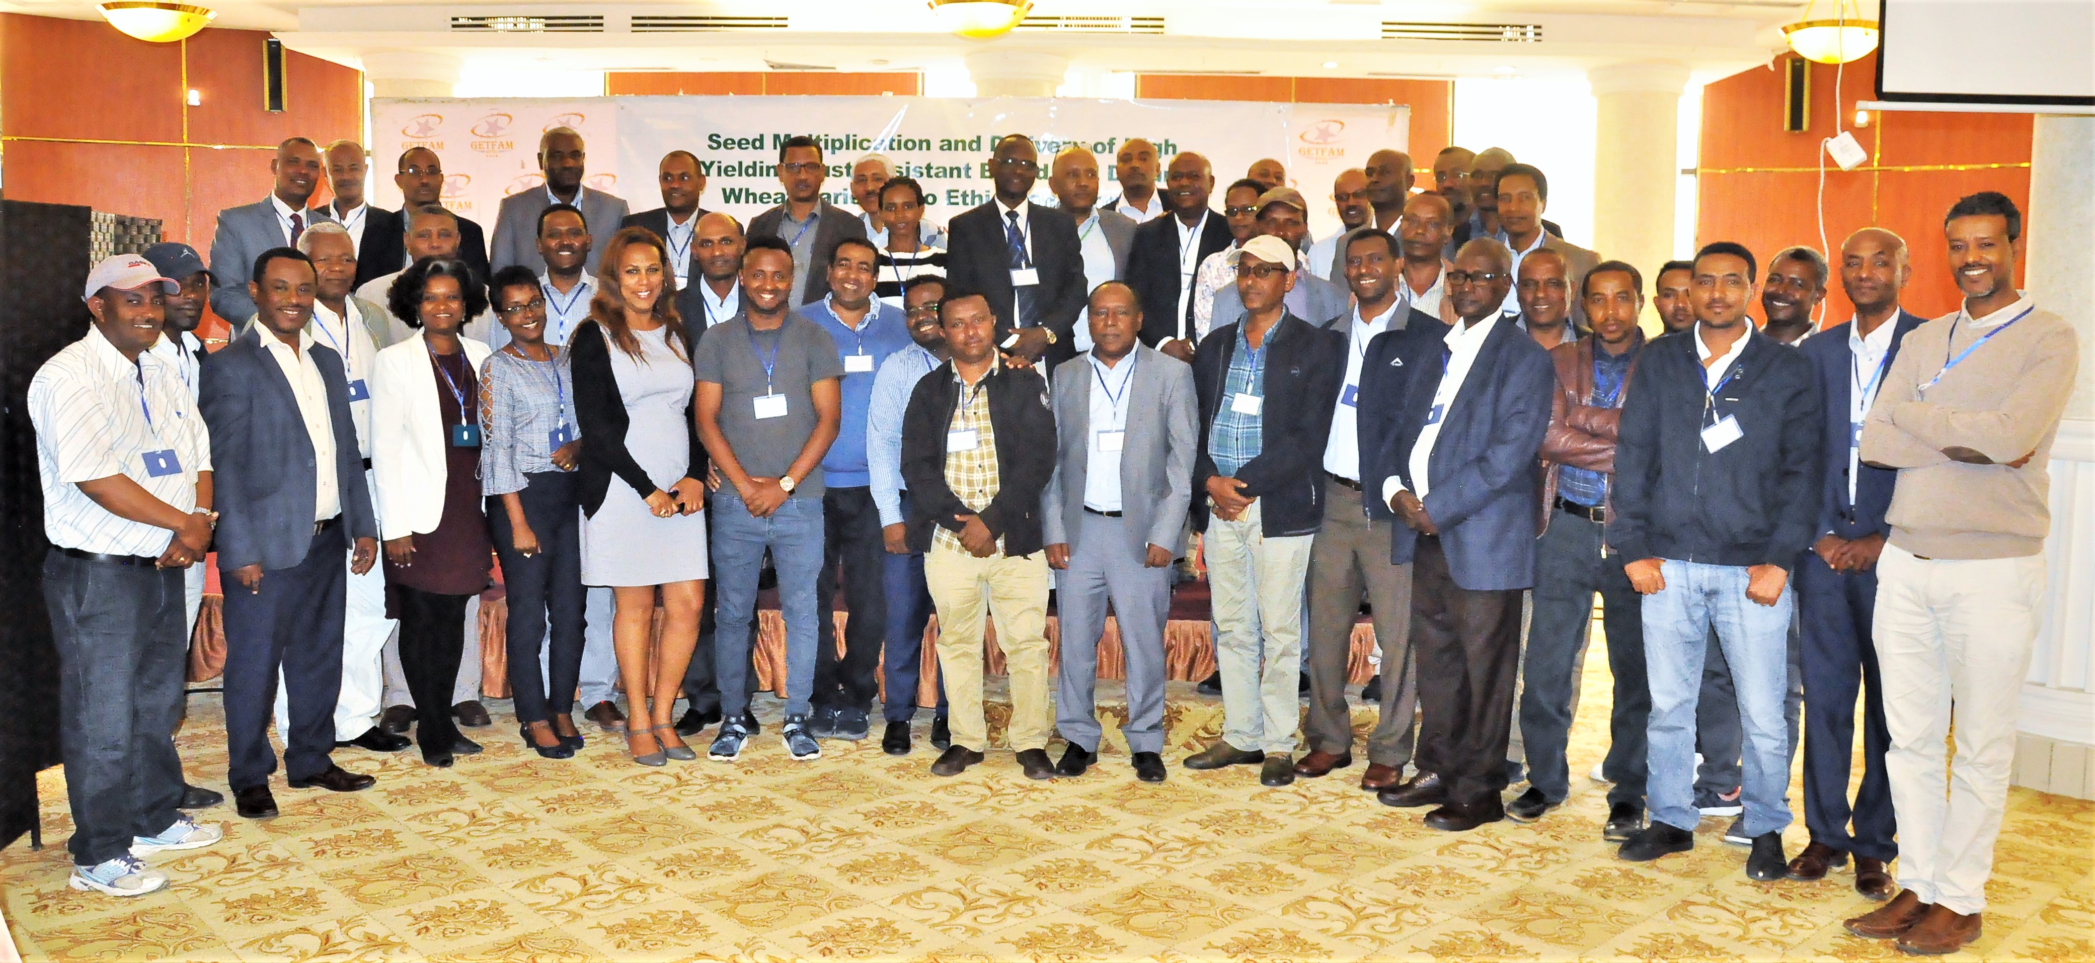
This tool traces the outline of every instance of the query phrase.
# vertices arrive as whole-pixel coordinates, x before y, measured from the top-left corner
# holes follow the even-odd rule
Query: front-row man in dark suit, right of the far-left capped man
[[[199,408],[212,429],[218,569],[226,584],[226,749],[241,816],[277,814],[268,741],[277,672],[289,691],[285,775],[293,789],[369,789],[329,760],[341,689],[348,574],[377,561],[377,517],[350,419],[341,356],[314,343],[316,274],[289,247],[262,251],[256,324],[203,362]],[[214,498],[216,500],[216,498]]]

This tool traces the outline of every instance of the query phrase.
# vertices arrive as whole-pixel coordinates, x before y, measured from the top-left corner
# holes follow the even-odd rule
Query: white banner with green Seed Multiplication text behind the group
[[[1075,100],[1075,98],[932,98],[932,96],[599,96],[536,98],[381,98],[371,105],[371,199],[398,207],[400,191],[385,178],[411,147],[429,147],[444,161],[444,203],[494,230],[503,197],[543,184],[538,134],[580,130],[589,144],[587,184],[624,197],[635,209],[660,207],[656,163],[668,151],[691,151],[706,174],[706,209],[748,222],[786,195],[777,180],[779,142],[811,134],[823,144],[830,203],[851,201],[851,163],[884,153],[899,176],[924,184],[928,218],[989,201],[989,147],[1001,134],[1029,134],[1039,147],[1048,193],[1048,161],[1066,142],[1100,159],[1100,201],[1121,195],[1112,155],[1129,138],[1148,138],[1169,161],[1198,151],[1215,167],[1213,205],[1221,188],[1261,157],[1276,157],[1288,182],[1311,203],[1316,237],[1339,226],[1330,182],[1362,167],[1381,149],[1408,149],[1410,107],[1286,105],[1240,100]],[[1161,178],[1159,178],[1161,180]]]

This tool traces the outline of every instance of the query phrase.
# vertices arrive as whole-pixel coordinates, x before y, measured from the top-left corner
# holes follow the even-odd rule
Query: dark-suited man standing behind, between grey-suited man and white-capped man
[[[1190,151],[1173,157],[1165,182],[1171,216],[1135,228],[1125,278],[1142,299],[1142,343],[1190,362],[1200,341],[1192,324],[1192,281],[1207,255],[1230,247],[1230,222],[1207,207],[1215,191],[1207,157]]]

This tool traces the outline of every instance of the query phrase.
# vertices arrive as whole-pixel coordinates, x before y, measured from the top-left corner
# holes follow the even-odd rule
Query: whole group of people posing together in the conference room
[[[168,737],[207,551],[228,783],[268,816],[272,706],[291,787],[369,787],[331,752],[404,749],[409,720],[434,766],[480,749],[463,639],[494,559],[520,739],[547,758],[582,745],[580,699],[639,764],[696,760],[683,739],[710,726],[706,756],[735,760],[775,578],[792,758],[867,739],[876,699],[882,749],[909,754],[936,613],[932,772],[989,749],[993,618],[1020,770],[1079,777],[1110,607],[1129,762],[1163,781],[1165,622],[1196,544],[1223,731],[1184,766],[1351,766],[1366,605],[1362,789],[1443,831],[1540,821],[1571,791],[1598,595],[1594,779],[1622,858],[1735,814],[1754,879],[1852,860],[1890,898],[1858,936],[1976,938],[2078,358],[2013,287],[2007,197],[1944,218],[1955,314],[1906,314],[1906,243],[1862,228],[1837,264],[1722,241],[1663,264],[1647,337],[1642,270],[1565,243],[1544,172],[1498,149],[1441,151],[1429,191],[1376,151],[1337,178],[1322,239],[1280,163],[1217,211],[1205,157],[1144,140],[1102,203],[1098,157],[1043,170],[1004,136],[995,199],[943,230],[880,155],[848,167],[859,211],[823,201],[846,167],[813,138],[784,142],[788,201],[748,226],[700,207],[689,153],[641,214],[582,186],[585,157],[545,134],[545,186],[503,201],[490,257],[436,203],[434,151],[400,155],[406,207],[379,211],[358,144],[293,138],[270,199],[220,216],[210,268],[174,243],[94,268],[94,327],[29,391],[75,888],[151,892],[140,856],[220,837],[182,814],[216,800]],[[333,201],[308,207],[323,174]],[[1835,272],[1854,316],[1821,329]],[[207,356],[205,301],[235,329]],[[1789,858],[1800,745],[1810,846]]]

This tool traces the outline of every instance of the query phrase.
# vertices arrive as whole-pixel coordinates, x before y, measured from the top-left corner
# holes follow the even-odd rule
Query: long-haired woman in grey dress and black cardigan
[[[620,230],[603,249],[589,320],[568,341],[582,427],[582,582],[618,597],[612,647],[631,718],[626,752],[643,766],[696,758],[670,710],[706,597],[706,450],[691,423],[691,341],[672,287],[662,239]],[[656,588],[660,647],[649,645]]]

